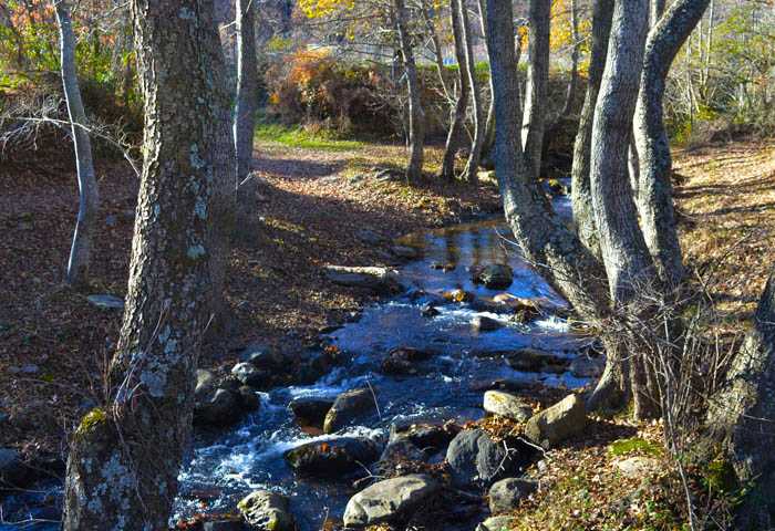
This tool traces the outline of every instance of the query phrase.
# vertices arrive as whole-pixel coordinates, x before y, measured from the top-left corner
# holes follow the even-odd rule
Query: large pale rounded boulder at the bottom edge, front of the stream
[[[350,499],[344,509],[344,527],[404,521],[440,490],[438,482],[425,475],[379,481]]]

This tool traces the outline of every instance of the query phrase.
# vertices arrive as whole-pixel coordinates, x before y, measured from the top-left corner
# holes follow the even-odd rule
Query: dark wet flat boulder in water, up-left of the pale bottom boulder
[[[368,437],[338,437],[298,446],[285,458],[299,473],[341,477],[374,462],[379,455],[376,442]]]

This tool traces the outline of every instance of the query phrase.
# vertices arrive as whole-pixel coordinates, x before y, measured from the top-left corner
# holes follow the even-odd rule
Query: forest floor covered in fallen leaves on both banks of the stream
[[[232,251],[228,289],[238,334],[229,344],[210,345],[203,366],[225,365],[254,341],[311,341],[372,300],[332,285],[321,273],[329,263],[391,263],[385,246],[363,241],[364,229],[390,242],[498,210],[497,190],[488,184],[428,176],[409,186],[378,178],[375,167],[402,163],[401,146],[293,147],[261,140],[256,154],[260,230]],[[437,166],[440,150],[431,149],[428,158],[428,167]],[[679,150],[675,173],[688,263],[711,279],[709,293],[728,331],[741,331],[775,259],[775,142]],[[137,180],[121,165],[99,168],[99,177],[103,222],[93,285],[80,292],[61,282],[76,210],[72,168],[50,166],[44,176],[30,171],[0,179],[0,447],[28,455],[62,452],[79,414],[102,399],[103,368],[121,312],[95,308],[86,295],[125,293]],[[654,457],[659,427],[626,419],[599,423],[602,436],[549,454],[550,477],[561,488],[526,503],[518,513],[524,529],[623,529],[608,528],[606,520],[621,511],[627,518],[618,521],[630,519],[636,525],[630,529],[639,529],[641,517],[662,507],[664,489],[638,502],[624,497],[640,479],[611,472],[623,457],[610,450],[612,439],[606,436],[611,431],[653,442],[634,444],[633,455]],[[678,488],[672,479],[655,479]]]

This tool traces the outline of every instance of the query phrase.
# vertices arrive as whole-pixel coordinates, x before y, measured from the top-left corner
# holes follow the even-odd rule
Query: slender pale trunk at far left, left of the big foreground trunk
[[[75,222],[73,243],[70,248],[66,281],[72,285],[81,285],[89,282],[92,240],[99,221],[100,192],[94,173],[94,160],[92,159],[92,142],[86,131],[86,112],[83,108],[75,67],[75,34],[73,33],[73,23],[70,20],[70,8],[65,0],[55,0],[54,6],[60,31],[62,84],[72,124],[71,132],[75,146],[79,186],[78,221]]]

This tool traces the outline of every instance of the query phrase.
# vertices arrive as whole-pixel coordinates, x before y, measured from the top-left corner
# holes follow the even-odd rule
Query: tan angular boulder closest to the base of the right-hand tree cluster
[[[536,445],[552,448],[581,433],[587,426],[587,408],[578,395],[568,395],[534,415],[525,425],[525,436]]]

